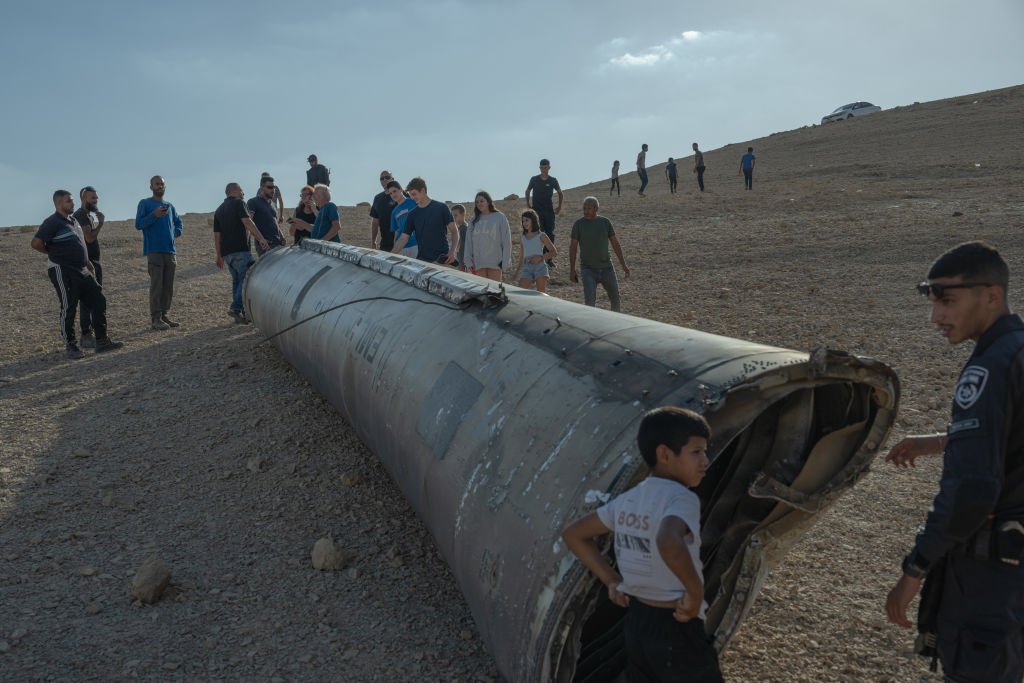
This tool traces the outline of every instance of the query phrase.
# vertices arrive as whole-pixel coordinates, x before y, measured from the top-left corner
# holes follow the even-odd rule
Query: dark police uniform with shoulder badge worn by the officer
[[[947,557],[938,612],[946,676],[1021,681],[1024,322],[1019,315],[1000,317],[978,339],[956,384],[947,434],[939,493],[905,562],[928,569]]]

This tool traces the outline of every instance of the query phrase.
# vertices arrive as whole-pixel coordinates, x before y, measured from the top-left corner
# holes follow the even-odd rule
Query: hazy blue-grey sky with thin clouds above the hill
[[[378,172],[439,200],[565,187],[883,108],[1018,85],[1021,0],[9,3],[0,24],[0,225],[95,185],[134,217],[148,179],[182,213],[270,171],[294,206],[305,158],[339,204]],[[308,7],[298,14],[297,7]]]

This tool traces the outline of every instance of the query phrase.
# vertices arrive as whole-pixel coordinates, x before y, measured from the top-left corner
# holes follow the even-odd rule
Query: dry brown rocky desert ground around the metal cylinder
[[[1011,88],[738,142],[706,153],[703,194],[683,157],[677,195],[660,166],[645,199],[635,174],[621,197],[604,181],[568,190],[556,246],[567,253],[596,194],[633,270],[625,312],[887,362],[903,388],[892,444],[944,427],[969,353],[945,345],[913,292],[931,260],[981,238],[1024,278],[1022,114],[1024,88]],[[748,144],[753,191],[736,174]],[[369,244],[366,212],[343,209],[345,241]],[[209,218],[185,216],[171,311],[182,325],[167,332],[148,329],[137,231],[104,227],[110,327],[126,346],[77,361],[33,228],[0,230],[0,679],[496,680],[386,472],[259,330],[227,317]],[[549,293],[582,301],[566,261]],[[882,609],[938,474],[937,460],[897,471],[880,455],[768,579],[722,656],[727,678],[939,680]],[[312,568],[324,537],[345,568]],[[146,604],[129,588],[154,555],[172,579]]]

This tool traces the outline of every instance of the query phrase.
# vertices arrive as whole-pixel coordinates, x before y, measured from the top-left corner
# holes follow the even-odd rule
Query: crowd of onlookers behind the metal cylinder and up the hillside
[[[703,155],[693,143],[697,183],[703,191]],[[648,145],[641,145],[637,155],[637,174],[640,178],[638,194],[644,197],[648,183]],[[753,186],[754,154],[748,148],[740,163],[748,189]],[[214,216],[214,249],[219,267],[226,267],[231,274],[231,303],[228,314],[239,324],[249,323],[243,302],[242,284],[245,273],[256,258],[271,249],[288,244],[284,227],[288,226],[292,244],[305,238],[341,241],[341,214],[331,200],[331,171],[319,163],[316,155],[309,155],[306,184],[299,191],[298,203],[292,215],[285,216],[285,202],[273,176],[263,172],[256,196],[245,201],[242,186],[228,183],[224,202]],[[612,190],[622,193],[618,181],[618,161],[611,169]],[[527,209],[518,216],[522,230],[518,262],[512,282],[523,288],[547,292],[552,269],[557,267],[555,249],[556,217],[562,211],[564,196],[558,179],[550,173],[551,162],[542,159],[540,173],[530,177],[526,185]],[[677,164],[669,158],[666,179],[670,193],[678,183]],[[375,249],[391,251],[423,261],[439,263],[483,278],[502,281],[512,266],[513,248],[511,225],[508,218],[495,207],[490,195],[477,193],[473,202],[473,215],[467,216],[466,208],[457,204],[447,207],[430,199],[426,181],[413,178],[404,187],[389,171],[380,174],[382,190],[370,206],[371,245]],[[166,183],[161,176],[150,180],[151,197],[141,200],[135,216],[135,227],[142,232],[142,252],[146,257],[150,273],[150,327],[168,330],[179,326],[168,313],[174,297],[176,257],[174,241],[181,234],[181,217],[174,205],[164,201]],[[557,196],[557,202],[555,198]],[[105,300],[102,296],[102,269],[99,261],[98,233],[103,225],[103,215],[97,207],[95,188],[83,187],[80,193],[82,206],[74,211],[71,194],[60,190],[54,195],[56,211],[40,228],[33,247],[46,253],[50,279],[54,282],[60,305],[60,330],[69,357],[82,357],[81,347],[108,351],[119,348],[120,342],[105,337]],[[68,203],[71,213],[62,213]],[[597,286],[605,290],[612,310],[622,309],[618,283],[611,264],[609,248],[615,254],[626,278],[622,246],[614,228],[606,217],[598,214],[600,203],[595,197],[584,200],[582,217],[573,224],[569,242],[569,281],[583,281],[584,301],[596,305]],[[95,218],[93,218],[95,216]],[[255,255],[252,252],[255,246]],[[69,247],[71,247],[69,249]],[[51,254],[52,248],[52,254]],[[84,253],[84,256],[79,254]],[[579,257],[580,269],[577,269]],[[79,280],[91,278],[92,287]],[[81,346],[75,334],[76,313],[81,329]],[[102,338],[102,343],[97,340]]]

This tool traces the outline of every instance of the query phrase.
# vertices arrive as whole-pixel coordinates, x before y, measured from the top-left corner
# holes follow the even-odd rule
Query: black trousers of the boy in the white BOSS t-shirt
[[[671,607],[651,607],[630,600],[623,628],[626,677],[630,683],[707,681],[721,683],[718,653],[705,633],[703,621],[677,622]]]

